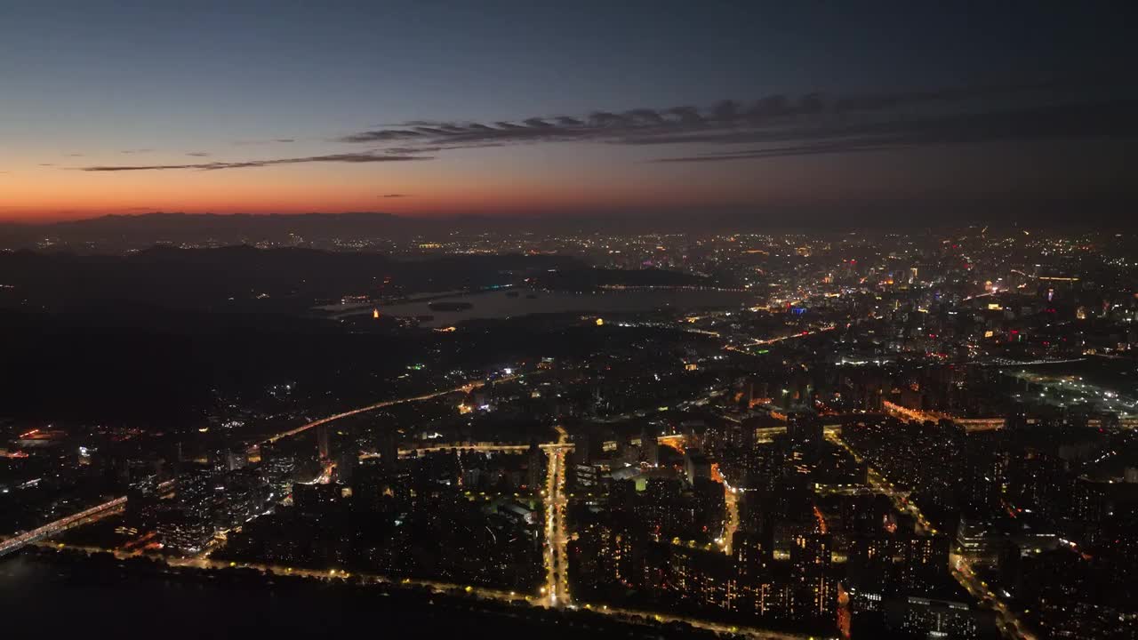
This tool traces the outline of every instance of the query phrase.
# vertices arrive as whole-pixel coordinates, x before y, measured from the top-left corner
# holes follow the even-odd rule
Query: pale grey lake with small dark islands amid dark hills
[[[424,327],[446,327],[463,320],[494,319],[530,313],[635,313],[655,309],[732,307],[751,303],[752,294],[702,289],[624,289],[611,292],[537,292],[520,295],[502,292],[447,297],[437,302],[468,302],[463,311],[432,310],[429,302],[409,302],[380,307],[387,315],[432,315]],[[528,297],[536,295],[536,297]]]

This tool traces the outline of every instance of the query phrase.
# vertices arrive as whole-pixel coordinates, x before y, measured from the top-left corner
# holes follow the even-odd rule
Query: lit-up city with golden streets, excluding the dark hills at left
[[[1048,593],[1132,566],[1133,238],[991,233],[569,238],[465,290],[339,289],[307,339],[380,361],[296,352],[163,432],[9,419],[0,549],[760,638],[1110,629],[1125,602]]]

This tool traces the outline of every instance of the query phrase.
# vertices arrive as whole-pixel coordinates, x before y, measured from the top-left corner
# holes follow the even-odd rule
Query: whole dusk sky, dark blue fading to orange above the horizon
[[[1132,9],[989,5],[0,0],[0,219],[1138,202]]]

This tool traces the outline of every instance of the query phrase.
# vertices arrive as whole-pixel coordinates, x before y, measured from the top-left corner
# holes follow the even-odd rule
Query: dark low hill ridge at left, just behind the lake
[[[0,252],[0,307],[52,311],[152,305],[213,312],[297,312],[341,296],[517,284],[551,269],[584,270],[547,255],[440,255],[393,260],[379,253],[250,246],[151,247],[127,255]]]

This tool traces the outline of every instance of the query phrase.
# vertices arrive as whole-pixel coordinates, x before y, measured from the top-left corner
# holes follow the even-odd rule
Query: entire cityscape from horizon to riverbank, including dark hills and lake
[[[0,581],[1138,637],[1132,232],[236,220],[0,238]]]

